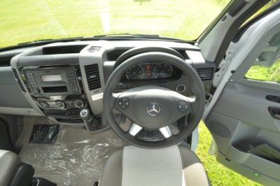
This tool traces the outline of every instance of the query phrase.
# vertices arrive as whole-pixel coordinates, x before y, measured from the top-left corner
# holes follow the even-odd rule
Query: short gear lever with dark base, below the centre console
[[[94,119],[94,117],[90,114],[90,110],[87,108],[80,110],[80,119],[82,119],[85,123],[87,131],[96,131],[100,128],[99,123]]]

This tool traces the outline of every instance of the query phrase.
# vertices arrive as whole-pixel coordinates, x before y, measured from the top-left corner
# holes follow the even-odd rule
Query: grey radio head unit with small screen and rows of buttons
[[[74,67],[24,69],[27,83],[34,96],[80,94]]]

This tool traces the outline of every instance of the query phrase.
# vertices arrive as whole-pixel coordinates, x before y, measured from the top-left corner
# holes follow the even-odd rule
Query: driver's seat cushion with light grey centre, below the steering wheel
[[[159,150],[128,146],[109,157],[99,185],[211,184],[200,159],[184,146]]]

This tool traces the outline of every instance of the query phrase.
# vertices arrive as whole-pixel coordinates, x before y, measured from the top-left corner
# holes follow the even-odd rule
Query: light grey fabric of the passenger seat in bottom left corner
[[[22,162],[14,152],[0,150],[0,185],[6,186]]]

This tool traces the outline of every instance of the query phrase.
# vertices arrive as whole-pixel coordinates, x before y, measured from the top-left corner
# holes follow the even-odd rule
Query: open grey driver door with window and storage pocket
[[[218,162],[264,185],[280,185],[279,57],[278,8],[230,43],[203,118]]]

